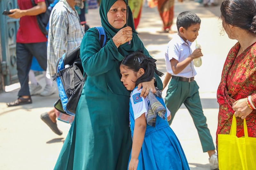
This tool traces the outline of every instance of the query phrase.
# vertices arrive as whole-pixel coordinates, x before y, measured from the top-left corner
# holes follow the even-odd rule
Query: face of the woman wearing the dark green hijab
[[[116,29],[123,28],[126,24],[126,4],[123,0],[117,0],[108,11],[108,22]]]

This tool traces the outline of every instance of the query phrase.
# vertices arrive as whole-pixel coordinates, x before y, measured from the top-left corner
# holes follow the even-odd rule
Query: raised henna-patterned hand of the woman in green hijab
[[[120,45],[132,40],[132,28],[130,26],[120,29],[112,38],[114,44],[118,48]]]

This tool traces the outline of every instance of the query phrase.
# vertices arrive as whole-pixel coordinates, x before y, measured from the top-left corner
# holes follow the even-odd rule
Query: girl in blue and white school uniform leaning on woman
[[[132,152],[129,170],[185,170],[189,169],[186,156],[180,142],[167,120],[170,111],[165,107],[162,92],[155,88],[153,94],[146,89],[148,96],[140,97],[142,82],[153,81],[154,74],[162,76],[156,70],[156,60],[147,58],[140,52],[127,55],[120,64],[121,81],[130,97],[130,127],[132,132]]]

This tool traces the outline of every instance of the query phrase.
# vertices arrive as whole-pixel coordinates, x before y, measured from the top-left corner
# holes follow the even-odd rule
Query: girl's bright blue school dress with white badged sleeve
[[[148,112],[149,100],[140,97],[141,89],[132,91],[130,98],[130,126],[133,137],[135,119]],[[156,99],[165,107],[163,98]],[[166,107],[165,107],[166,109]],[[170,115],[166,109],[165,117]],[[131,159],[131,154],[130,154]],[[130,163],[129,159],[129,163]],[[159,115],[156,117],[156,127],[147,124],[144,142],[139,155],[137,170],[187,170],[188,161],[180,142],[167,120]]]

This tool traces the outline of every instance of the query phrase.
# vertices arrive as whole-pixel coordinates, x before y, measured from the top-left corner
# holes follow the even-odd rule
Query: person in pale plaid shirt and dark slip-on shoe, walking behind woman
[[[83,0],[60,0],[52,9],[49,20],[47,45],[46,77],[48,78],[51,78],[56,72],[56,62],[58,58],[68,50],[79,46],[84,36],[84,28],[80,24],[75,5],[83,8]],[[56,117],[59,115],[60,112],[53,108],[40,116],[57,135],[62,134],[62,131],[58,129],[56,123]],[[69,120],[68,116],[66,117]],[[72,117],[72,119],[74,119],[74,117]]]

